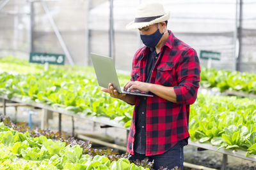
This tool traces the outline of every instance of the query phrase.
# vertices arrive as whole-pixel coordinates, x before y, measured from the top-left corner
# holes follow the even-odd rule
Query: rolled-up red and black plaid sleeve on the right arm
[[[200,81],[200,63],[195,50],[190,49],[180,56],[176,74],[178,85],[173,89],[177,104],[195,103]]]

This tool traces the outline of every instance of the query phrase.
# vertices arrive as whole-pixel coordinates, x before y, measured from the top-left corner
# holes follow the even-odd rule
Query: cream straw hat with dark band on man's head
[[[126,25],[126,29],[141,29],[148,25],[156,24],[168,20],[169,11],[164,11],[163,4],[147,3],[141,4],[136,13],[136,17],[132,22]]]

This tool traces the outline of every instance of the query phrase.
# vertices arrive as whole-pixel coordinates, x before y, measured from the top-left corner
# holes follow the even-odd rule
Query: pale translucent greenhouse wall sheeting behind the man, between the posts
[[[131,71],[131,60],[143,45],[138,31],[127,31],[125,25],[134,18],[138,4],[145,0],[113,1],[114,48],[116,68]],[[170,11],[168,29],[175,36],[200,50],[220,52],[220,60],[211,67],[234,70],[235,1],[160,1]],[[2,3],[2,2],[1,2]],[[49,1],[50,14],[67,46],[74,63],[90,64],[88,53],[109,56],[109,1]],[[256,72],[256,3],[244,1],[241,71]],[[89,11],[88,11],[89,9]],[[40,2],[34,3],[33,51],[64,53]],[[10,0],[0,10],[0,55],[28,59],[30,50],[30,4]],[[89,32],[87,32],[89,29]],[[89,37],[87,38],[87,34]],[[89,48],[88,48],[89,47]],[[237,48],[237,47],[236,47]],[[207,66],[207,60],[200,60]],[[70,64],[66,59],[66,64]]]

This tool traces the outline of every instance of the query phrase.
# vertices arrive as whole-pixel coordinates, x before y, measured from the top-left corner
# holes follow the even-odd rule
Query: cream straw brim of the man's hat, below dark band
[[[162,17],[156,18],[154,20],[151,20],[150,22],[130,22],[126,25],[126,29],[132,30],[132,29],[141,29],[143,27],[147,27],[149,25],[157,24],[159,22],[166,21],[170,18],[170,11],[166,12]]]

